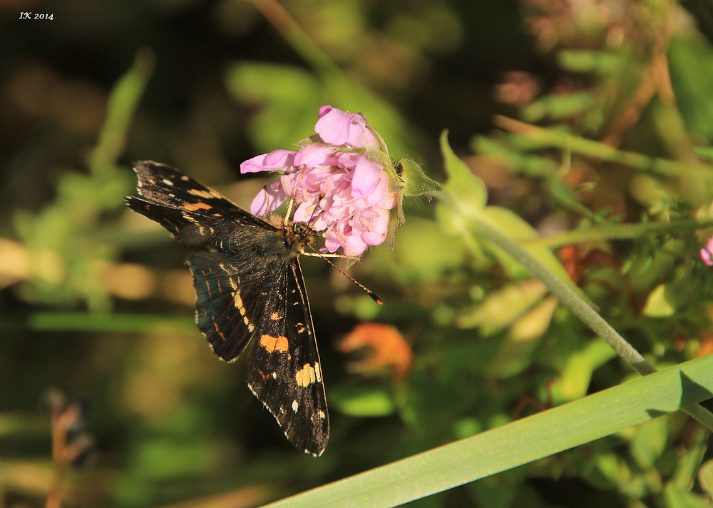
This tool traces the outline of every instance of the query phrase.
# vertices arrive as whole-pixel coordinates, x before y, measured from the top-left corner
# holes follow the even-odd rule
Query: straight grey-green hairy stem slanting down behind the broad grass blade
[[[481,213],[470,213],[468,218],[471,219],[468,223],[471,228],[467,232],[464,231],[464,233],[471,235],[474,226],[479,235],[498,245],[498,247],[522,263],[532,275],[545,284],[548,290],[560,300],[560,303],[565,305],[575,316],[583,320],[597,335],[602,337],[617,352],[617,355],[622,357],[622,360],[631,365],[640,375],[645,376],[657,372],[654,366],[642,357],[640,352],[635,350],[624,337],[614,330],[602,316],[569,288],[552,270],[530,254],[523,245],[520,245],[508,235],[501,233],[498,228],[493,227],[488,218]],[[708,430],[713,431],[713,413],[709,412],[709,410],[698,404],[684,407],[682,410],[698,420]]]

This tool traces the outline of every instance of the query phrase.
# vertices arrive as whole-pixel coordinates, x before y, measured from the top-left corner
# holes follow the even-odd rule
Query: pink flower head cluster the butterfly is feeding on
[[[395,176],[376,160],[385,148],[361,114],[322,106],[314,131],[319,138],[298,151],[274,150],[240,165],[242,173],[284,173],[255,196],[250,212],[265,216],[294,198],[292,220],[323,232],[322,250],[342,247],[355,258],[386,239],[389,210],[399,203]]]

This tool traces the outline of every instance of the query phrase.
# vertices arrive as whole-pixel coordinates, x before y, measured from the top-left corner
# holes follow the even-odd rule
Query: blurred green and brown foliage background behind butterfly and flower
[[[96,439],[64,478],[66,506],[198,508],[279,499],[632,376],[519,263],[458,233],[462,214],[406,200],[394,249],[351,270],[382,307],[303,263],[332,437],[320,459],[292,449],[245,360],[218,362],[195,329],[185,249],[122,197],[130,162],[152,159],[247,205],[267,180],[239,163],[309,136],[325,103],[366,113],[436,181],[448,128],[447,162],[478,177],[452,188],[647,360],[713,352],[698,255],[713,233],[713,30],[693,4],[0,6],[0,507],[44,504],[36,406],[51,386],[91,401]],[[350,372],[359,354],[336,346],[360,320],[404,336],[403,382]],[[708,506],[710,459],[677,413],[414,505]]]

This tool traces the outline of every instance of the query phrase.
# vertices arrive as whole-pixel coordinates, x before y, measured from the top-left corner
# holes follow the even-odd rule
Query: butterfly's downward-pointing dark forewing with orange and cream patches
[[[299,262],[291,260],[284,268],[275,274],[275,290],[265,301],[248,360],[247,385],[289,442],[319,457],[329,440],[322,367]]]

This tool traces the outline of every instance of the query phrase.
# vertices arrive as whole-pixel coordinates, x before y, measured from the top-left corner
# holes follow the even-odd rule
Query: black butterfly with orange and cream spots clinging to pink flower
[[[234,361],[252,340],[247,385],[287,440],[319,457],[329,440],[327,398],[298,256],[309,223],[265,220],[165,164],[134,163],[141,198],[129,208],[202,250],[188,259],[196,322],[213,352]]]

